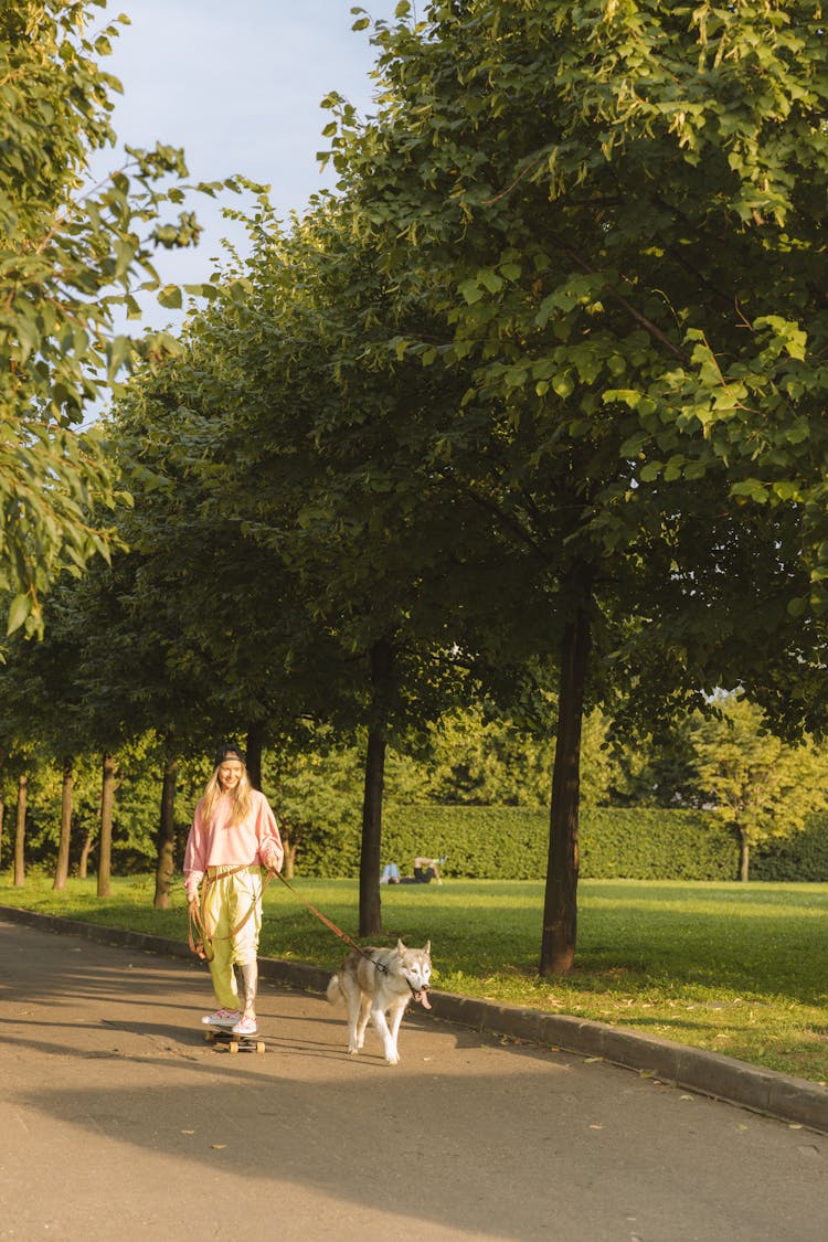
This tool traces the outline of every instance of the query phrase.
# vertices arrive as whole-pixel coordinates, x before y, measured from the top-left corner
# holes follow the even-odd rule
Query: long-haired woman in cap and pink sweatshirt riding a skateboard
[[[205,1026],[256,1035],[258,936],[262,929],[259,867],[281,871],[284,850],[267,799],[247,776],[238,746],[221,746],[184,852],[184,882],[194,918],[204,881],[201,925],[212,944],[210,974],[218,1009]],[[242,992],[233,966],[238,966]]]

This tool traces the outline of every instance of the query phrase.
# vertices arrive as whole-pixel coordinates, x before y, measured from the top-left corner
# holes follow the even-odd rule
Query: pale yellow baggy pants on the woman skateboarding
[[[233,966],[256,961],[262,930],[262,876],[258,867],[210,867],[204,882],[204,929],[211,941],[210,975],[220,1009],[238,1009]],[[245,919],[248,910],[252,913]],[[245,925],[238,924],[245,919]],[[233,933],[233,928],[238,928]],[[233,933],[233,934],[231,934]]]

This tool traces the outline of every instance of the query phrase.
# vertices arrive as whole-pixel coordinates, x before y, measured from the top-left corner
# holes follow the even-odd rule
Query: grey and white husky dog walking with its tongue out
[[[331,1005],[345,1001],[348,1006],[348,1051],[356,1054],[365,1043],[369,1017],[382,1040],[385,1059],[390,1066],[400,1061],[397,1032],[410,1001],[428,1004],[431,979],[431,940],[423,949],[406,949],[397,940],[396,949],[364,949],[350,953],[338,975],[328,984]],[[386,1013],[389,1017],[386,1018]]]

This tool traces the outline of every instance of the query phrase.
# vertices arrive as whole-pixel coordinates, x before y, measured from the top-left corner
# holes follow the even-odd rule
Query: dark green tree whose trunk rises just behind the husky
[[[259,222],[247,276],[191,320],[165,391],[156,385],[146,400],[155,404],[153,426],[164,425],[166,404],[166,428],[171,421],[180,428],[174,441],[164,436],[164,469],[180,469],[190,486],[200,481],[212,548],[230,540],[240,549],[238,570],[221,575],[240,579],[235,623],[242,609],[248,632],[271,636],[256,655],[269,650],[273,664],[282,653],[297,709],[351,733],[365,727],[360,930],[367,935],[381,927],[391,730],[426,719],[427,702],[452,693],[447,604],[459,573],[449,580],[446,560],[459,568],[452,538],[463,502],[442,484],[436,493],[422,468],[421,440],[446,392],[418,363],[395,360],[386,348],[385,325],[415,314],[422,322],[427,304],[408,302],[403,279],[396,287],[377,279],[370,248],[345,224],[330,202],[287,237],[272,220]],[[227,655],[218,658],[226,667]],[[271,684],[258,678],[259,697]],[[283,684],[279,699],[284,717]]]

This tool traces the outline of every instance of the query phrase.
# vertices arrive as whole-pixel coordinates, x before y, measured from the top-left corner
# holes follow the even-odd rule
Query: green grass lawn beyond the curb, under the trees
[[[186,939],[184,892],[151,908],[154,881],[94,881],[53,893],[0,881],[0,904]],[[345,946],[302,900],[349,935],[355,881],[272,884],[261,953],[333,969]],[[385,943],[432,941],[434,985],[467,996],[634,1027],[754,1064],[828,1081],[828,884],[582,881],[576,969],[540,979],[542,884],[447,881],[382,889]]]

